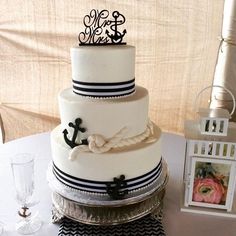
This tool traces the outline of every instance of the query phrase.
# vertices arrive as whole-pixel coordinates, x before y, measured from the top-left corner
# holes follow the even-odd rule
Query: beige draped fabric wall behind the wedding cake
[[[93,8],[126,16],[136,46],[136,82],[149,89],[150,117],[182,133],[198,91],[212,83],[223,0],[2,0],[0,124],[5,141],[59,124],[58,92],[71,85],[69,48]]]

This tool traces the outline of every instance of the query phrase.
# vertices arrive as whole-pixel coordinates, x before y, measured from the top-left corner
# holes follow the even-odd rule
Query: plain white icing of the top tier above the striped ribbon
[[[71,48],[72,79],[112,83],[135,77],[135,47],[128,45]]]

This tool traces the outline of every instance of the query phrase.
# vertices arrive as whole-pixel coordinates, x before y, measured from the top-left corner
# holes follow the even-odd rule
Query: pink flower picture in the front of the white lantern
[[[230,164],[197,161],[192,201],[225,205],[230,169]]]

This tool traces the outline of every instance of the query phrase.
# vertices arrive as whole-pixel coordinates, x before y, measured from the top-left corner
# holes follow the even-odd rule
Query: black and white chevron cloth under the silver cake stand
[[[165,236],[165,231],[160,220],[151,215],[141,219],[112,226],[87,225],[63,218],[58,236]]]

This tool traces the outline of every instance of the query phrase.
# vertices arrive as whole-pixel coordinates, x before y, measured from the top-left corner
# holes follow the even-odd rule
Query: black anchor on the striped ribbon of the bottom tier
[[[113,182],[106,184],[106,186],[107,193],[112,199],[119,200],[124,198],[124,196],[128,194],[128,189],[121,190],[122,188],[127,187],[124,175],[120,175],[119,178],[114,177]]]

